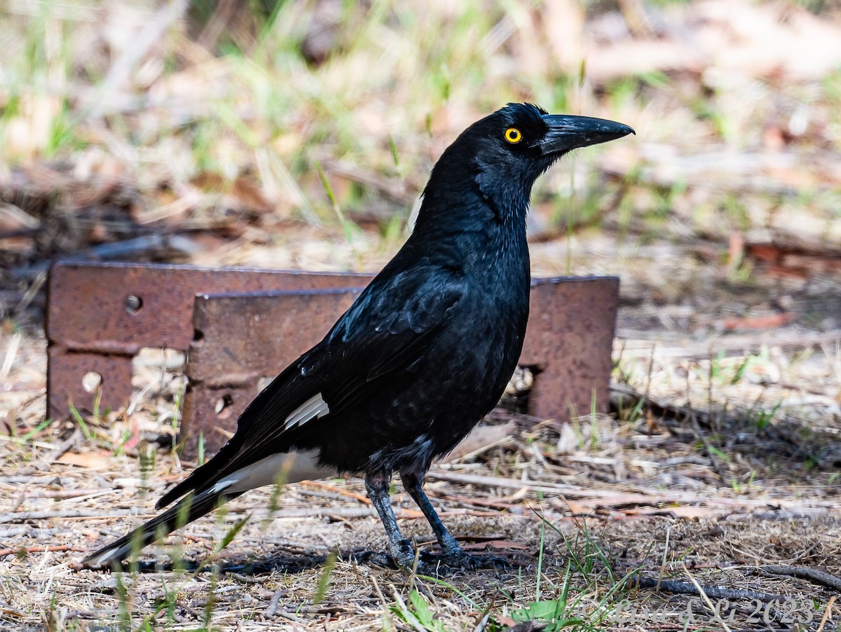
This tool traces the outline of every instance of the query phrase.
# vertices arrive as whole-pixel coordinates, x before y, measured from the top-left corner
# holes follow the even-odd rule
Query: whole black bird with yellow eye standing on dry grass
[[[359,473],[389,552],[410,567],[389,501],[392,472],[429,520],[447,566],[478,566],[423,491],[447,454],[499,400],[526,333],[532,184],[569,150],[632,134],[602,119],[527,103],[474,123],[444,151],[415,229],[324,340],[288,366],[241,414],[236,434],[156,503],[167,511],[87,556],[123,561],[243,492],[296,475],[290,459]]]

